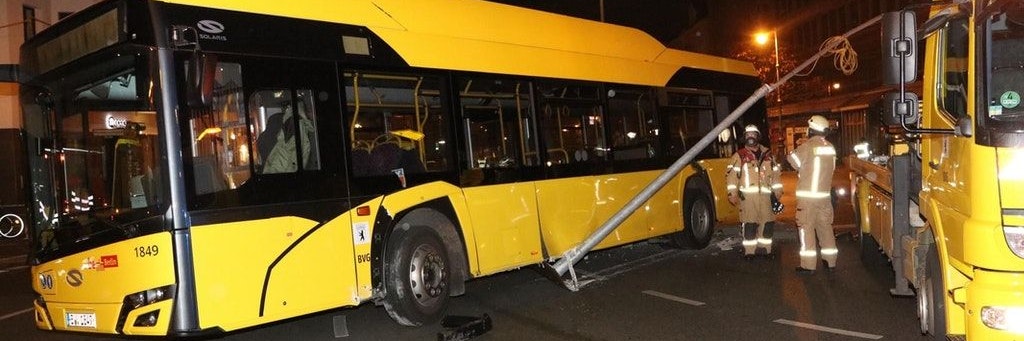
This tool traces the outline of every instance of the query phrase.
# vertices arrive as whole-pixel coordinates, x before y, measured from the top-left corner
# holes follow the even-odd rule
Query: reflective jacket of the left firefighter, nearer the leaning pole
[[[779,180],[779,168],[771,153],[764,145],[752,151],[745,146],[739,147],[732,155],[729,169],[726,172],[726,184],[730,195],[740,195],[740,198],[773,191],[776,196],[782,194],[782,182]]]

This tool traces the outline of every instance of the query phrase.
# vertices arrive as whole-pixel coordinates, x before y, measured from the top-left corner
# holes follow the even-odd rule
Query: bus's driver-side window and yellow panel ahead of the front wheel
[[[200,62],[215,62],[212,99],[181,130],[201,324],[357,303],[334,65]]]

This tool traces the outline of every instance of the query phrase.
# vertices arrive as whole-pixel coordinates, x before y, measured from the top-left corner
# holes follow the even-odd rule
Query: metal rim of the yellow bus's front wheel
[[[447,287],[444,258],[436,248],[420,245],[409,262],[409,288],[420,305],[431,305],[444,295]]]

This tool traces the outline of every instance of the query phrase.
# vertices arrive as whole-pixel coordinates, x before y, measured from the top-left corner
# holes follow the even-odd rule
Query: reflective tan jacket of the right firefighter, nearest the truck
[[[813,136],[790,154],[797,170],[797,199],[827,199],[836,170],[836,148],[823,136]],[[798,203],[799,204],[799,203]]]

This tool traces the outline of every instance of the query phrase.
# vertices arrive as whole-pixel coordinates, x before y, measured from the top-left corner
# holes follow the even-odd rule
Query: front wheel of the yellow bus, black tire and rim
[[[395,233],[385,263],[384,308],[400,325],[440,319],[447,307],[452,266],[440,238],[424,226]]]

